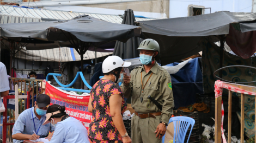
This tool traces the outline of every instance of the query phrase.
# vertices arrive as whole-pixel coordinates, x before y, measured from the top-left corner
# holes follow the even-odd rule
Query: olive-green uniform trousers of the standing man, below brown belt
[[[131,120],[132,143],[161,143],[162,139],[156,138],[155,133],[161,117],[140,119],[134,115]]]

